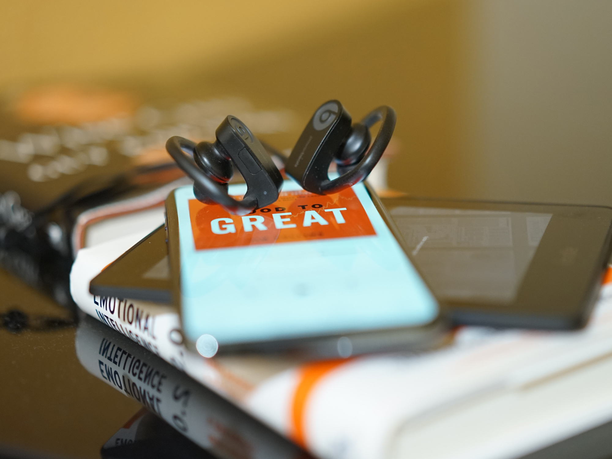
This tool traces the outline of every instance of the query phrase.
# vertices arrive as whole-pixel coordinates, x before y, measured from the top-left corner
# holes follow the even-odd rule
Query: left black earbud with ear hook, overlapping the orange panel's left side
[[[215,143],[195,142],[173,136],[166,150],[179,167],[192,177],[193,193],[207,204],[221,204],[228,212],[246,215],[278,199],[283,177],[266,149],[248,127],[235,116],[228,116],[215,131]],[[233,165],[247,182],[241,201],[228,195]]]

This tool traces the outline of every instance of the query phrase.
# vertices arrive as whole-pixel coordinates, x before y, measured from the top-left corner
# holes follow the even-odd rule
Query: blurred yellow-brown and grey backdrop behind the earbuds
[[[0,95],[83,81],[296,114],[398,112],[413,195],[612,205],[612,2],[0,3]],[[572,184],[572,186],[568,186]]]

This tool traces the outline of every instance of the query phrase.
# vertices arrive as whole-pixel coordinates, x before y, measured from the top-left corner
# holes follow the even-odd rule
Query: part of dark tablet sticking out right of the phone
[[[408,197],[375,206],[455,324],[586,324],[612,250],[609,207]]]

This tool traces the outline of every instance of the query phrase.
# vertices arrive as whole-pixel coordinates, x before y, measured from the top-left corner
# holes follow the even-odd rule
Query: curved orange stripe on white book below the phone
[[[299,446],[306,447],[304,410],[313,387],[327,373],[349,361],[350,359],[324,360],[323,362],[304,365],[300,369],[300,381],[297,383],[296,392],[293,394],[293,406],[291,407],[291,420],[293,421],[291,438]]]

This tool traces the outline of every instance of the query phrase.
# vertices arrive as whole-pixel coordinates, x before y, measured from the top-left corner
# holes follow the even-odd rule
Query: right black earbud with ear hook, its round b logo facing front
[[[338,100],[319,106],[286,160],[285,172],[302,188],[318,195],[338,193],[364,180],[391,140],[395,110],[383,105],[359,123],[351,126],[351,121]],[[382,124],[370,147],[370,128],[378,121]],[[327,176],[332,161],[340,174],[334,180]]]

